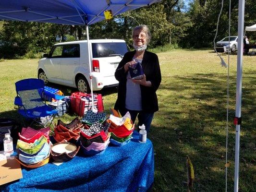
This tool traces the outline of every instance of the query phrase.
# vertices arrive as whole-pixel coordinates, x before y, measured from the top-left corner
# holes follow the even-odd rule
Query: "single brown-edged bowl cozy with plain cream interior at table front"
[[[80,146],[77,147],[75,144],[62,141],[60,143],[52,145],[51,156],[54,161],[58,161],[58,162],[69,161],[74,156],[76,156],[79,149],[80,149]]]

